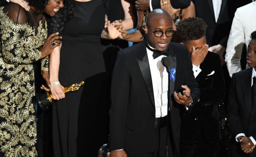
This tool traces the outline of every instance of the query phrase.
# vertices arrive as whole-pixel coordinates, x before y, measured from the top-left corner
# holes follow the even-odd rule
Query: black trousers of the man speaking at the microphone
[[[166,157],[166,139],[168,143],[168,157],[173,157],[170,138],[169,136],[166,137],[166,127],[154,128],[145,157]]]

